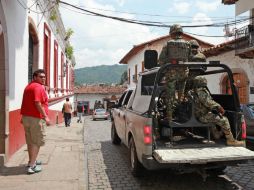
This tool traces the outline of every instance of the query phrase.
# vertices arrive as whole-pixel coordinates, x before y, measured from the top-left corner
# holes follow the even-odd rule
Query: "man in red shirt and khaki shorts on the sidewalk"
[[[45,72],[39,69],[33,73],[33,81],[23,93],[21,115],[28,149],[27,173],[41,171],[40,162],[36,161],[40,147],[45,144],[45,127],[49,125],[48,95],[45,90]]]

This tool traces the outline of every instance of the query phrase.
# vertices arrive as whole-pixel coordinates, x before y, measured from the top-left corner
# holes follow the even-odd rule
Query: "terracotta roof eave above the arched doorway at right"
[[[232,51],[235,49],[235,44],[237,41],[238,40],[231,40],[228,42],[215,45],[213,47],[205,49],[204,51],[202,51],[202,53],[205,54],[206,57],[211,57],[222,53],[226,53],[228,51]]]

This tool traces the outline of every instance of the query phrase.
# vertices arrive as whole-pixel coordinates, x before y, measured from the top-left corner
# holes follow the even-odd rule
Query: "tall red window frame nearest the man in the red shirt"
[[[48,33],[48,35],[47,35]],[[46,85],[50,87],[50,47],[51,47],[51,31],[46,23],[44,23],[44,70],[46,72]]]

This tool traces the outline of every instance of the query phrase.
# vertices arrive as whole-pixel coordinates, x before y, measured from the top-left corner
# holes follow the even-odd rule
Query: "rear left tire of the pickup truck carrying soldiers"
[[[139,177],[143,172],[143,166],[139,162],[137,157],[136,146],[133,138],[130,140],[129,146],[129,159],[130,159],[130,166],[131,166],[131,173],[134,177]]]

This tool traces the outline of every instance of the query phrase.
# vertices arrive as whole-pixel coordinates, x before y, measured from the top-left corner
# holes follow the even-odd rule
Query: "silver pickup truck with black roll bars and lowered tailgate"
[[[157,58],[153,60],[157,61]],[[153,67],[139,75],[137,86],[126,90],[112,110],[111,140],[113,144],[122,142],[128,147],[132,174],[139,176],[143,168],[170,168],[181,172],[197,171],[205,179],[206,172],[221,172],[229,165],[253,159],[254,152],[245,147],[227,146],[225,137],[215,140],[210,136],[210,129],[215,126],[195,118],[195,103],[191,96],[177,105],[175,120],[167,120],[167,104],[161,103],[160,99],[165,95],[165,73],[173,67],[189,69],[186,86],[191,84],[193,76],[212,79],[208,80],[211,96],[224,107],[234,137],[245,140],[243,115],[229,67],[198,63]],[[231,94],[219,94],[222,75],[228,76]]]

